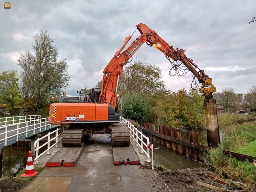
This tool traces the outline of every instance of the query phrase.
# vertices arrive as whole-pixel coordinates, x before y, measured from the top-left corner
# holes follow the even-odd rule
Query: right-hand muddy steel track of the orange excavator
[[[127,124],[114,123],[112,124],[111,133],[112,146],[130,146],[130,130]]]

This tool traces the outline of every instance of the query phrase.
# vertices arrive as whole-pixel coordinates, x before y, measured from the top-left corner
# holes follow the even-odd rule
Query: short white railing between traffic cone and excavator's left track
[[[60,131],[61,129],[62,129],[62,132],[59,133],[59,131]],[[60,138],[60,140],[58,140],[58,137],[63,133],[63,131],[64,131],[64,127],[60,127],[60,128],[56,129],[56,130],[53,131],[53,132],[49,132],[49,133],[48,133],[47,135],[45,135],[44,137],[38,138],[38,139],[35,141],[35,144],[34,144],[35,153],[36,153],[36,156],[35,156],[35,158],[34,158],[35,164],[38,164],[37,159],[38,159],[39,157],[41,157],[42,155],[44,155],[46,152],[47,152],[46,155],[50,155],[50,149],[51,149],[54,145],[55,145],[55,147],[58,147],[58,143],[59,143],[60,140],[62,139],[62,138]],[[56,133],[56,136],[51,139],[51,135],[54,134],[54,133]],[[48,138],[48,139],[47,139],[47,142],[44,143],[43,145],[41,145],[41,146],[39,147],[39,142],[40,142],[41,140],[43,140],[44,138],[46,138],[46,137]],[[53,141],[53,140],[55,140],[55,143],[50,146],[50,142]],[[46,146],[46,145],[47,145],[47,149],[39,155],[39,149],[43,148],[43,147]]]

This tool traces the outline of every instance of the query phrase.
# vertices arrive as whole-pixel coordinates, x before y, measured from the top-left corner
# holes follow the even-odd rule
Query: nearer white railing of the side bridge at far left
[[[41,132],[41,129],[46,130],[47,126],[51,126],[51,124],[47,124],[47,122],[48,122],[48,117],[26,121],[26,122],[15,123],[15,124],[9,124],[9,125],[0,127],[0,132],[4,130],[3,132],[0,133],[0,137],[1,135],[4,135],[4,138],[0,139],[0,143],[4,141],[4,146],[6,146],[8,139],[16,137],[16,141],[18,141],[19,135],[24,135],[24,133],[26,133],[26,137],[28,137],[28,132],[33,131],[33,133],[35,134],[35,131],[38,129],[39,129],[39,132]],[[22,124],[25,124],[25,126],[21,126]],[[24,131],[21,131],[21,129],[24,129]]]

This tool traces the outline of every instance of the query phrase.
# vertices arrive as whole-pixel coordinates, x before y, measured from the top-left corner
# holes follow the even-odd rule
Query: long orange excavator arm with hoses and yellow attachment
[[[122,52],[125,45],[132,38],[136,29],[140,31],[141,35]],[[170,46],[154,30],[148,28],[145,24],[140,23],[136,26],[132,34],[126,37],[124,44],[116,52],[103,71],[104,75],[102,80],[101,96],[102,98],[105,96],[105,102],[112,104],[114,108],[116,107],[117,86],[123,73],[123,67],[127,63],[131,62],[129,60],[145,42],[149,46],[154,46],[163,52],[168,60],[172,59],[173,61],[180,61],[180,64],[184,64],[194,77],[198,79],[199,83],[201,83],[199,91],[206,97],[206,99],[212,98],[212,93],[216,91],[216,88],[212,84],[212,78],[206,75],[204,70],[199,69],[193,60],[185,55],[184,52],[186,50],[178,48],[174,49],[172,45]]]

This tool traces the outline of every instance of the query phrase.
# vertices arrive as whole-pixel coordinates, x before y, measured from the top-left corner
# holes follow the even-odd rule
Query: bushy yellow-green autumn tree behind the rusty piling
[[[189,93],[185,89],[169,92],[157,100],[155,111],[158,113],[156,124],[195,129],[205,123],[204,98],[192,89]]]

